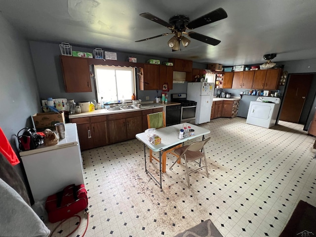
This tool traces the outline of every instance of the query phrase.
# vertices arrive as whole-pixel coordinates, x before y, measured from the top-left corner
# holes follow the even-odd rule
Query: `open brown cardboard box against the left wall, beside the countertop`
[[[46,128],[55,129],[54,124],[57,122],[65,123],[65,115],[64,112],[38,113],[32,116],[32,120],[36,130],[42,131]]]

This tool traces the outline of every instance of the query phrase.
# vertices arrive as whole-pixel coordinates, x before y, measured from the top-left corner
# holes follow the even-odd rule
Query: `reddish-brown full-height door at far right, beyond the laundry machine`
[[[291,75],[279,120],[295,123],[299,122],[312,79],[312,74]]]

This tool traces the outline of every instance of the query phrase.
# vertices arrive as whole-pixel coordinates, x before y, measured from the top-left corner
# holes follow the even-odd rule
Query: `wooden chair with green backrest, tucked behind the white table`
[[[158,113],[154,113],[154,114],[149,114],[147,115],[147,125],[148,128],[161,128],[161,127],[165,127],[166,126],[166,120],[165,120],[165,116],[164,116],[164,112],[158,112]],[[166,151],[164,151],[161,155],[161,171],[163,173],[166,172],[166,158],[167,158],[167,153],[170,153],[176,157],[179,157],[177,154],[173,153],[173,150],[176,148],[180,148],[182,147],[182,144],[177,145],[175,147],[172,147]],[[153,151],[150,149],[149,151],[149,161],[152,162],[153,159],[157,160],[159,162],[159,158],[156,158],[153,156]],[[180,160],[179,160],[180,163]]]

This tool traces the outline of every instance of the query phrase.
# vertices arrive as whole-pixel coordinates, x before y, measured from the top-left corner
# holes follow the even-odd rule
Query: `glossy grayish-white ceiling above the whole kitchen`
[[[172,52],[170,30],[140,17],[150,12],[168,22],[176,14],[194,20],[218,7],[228,18],[194,29],[221,40],[194,39]],[[316,57],[316,0],[0,0],[0,13],[29,40],[69,42],[112,51],[190,59],[199,63],[247,65]],[[188,30],[187,30],[188,32]]]

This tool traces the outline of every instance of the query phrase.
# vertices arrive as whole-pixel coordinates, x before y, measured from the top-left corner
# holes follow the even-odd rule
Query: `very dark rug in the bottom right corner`
[[[279,237],[316,236],[316,207],[300,200]]]

